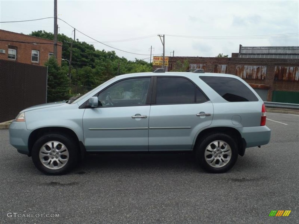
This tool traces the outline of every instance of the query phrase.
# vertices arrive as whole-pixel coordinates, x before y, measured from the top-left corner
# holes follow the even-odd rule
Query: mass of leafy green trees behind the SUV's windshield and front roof
[[[45,32],[45,30],[32,31],[29,35],[50,40],[54,38],[53,33]],[[117,75],[152,71],[152,64],[143,60],[136,59],[135,62],[131,62],[124,57],[117,56],[115,51],[96,50],[93,45],[80,42],[78,39],[74,41],[60,33],[57,39],[62,42],[63,59],[70,57],[71,44],[66,42],[73,44],[71,82],[75,92],[72,91],[72,93],[84,93],[82,91],[90,90]],[[62,61],[60,72],[67,76],[68,67],[68,62]]]

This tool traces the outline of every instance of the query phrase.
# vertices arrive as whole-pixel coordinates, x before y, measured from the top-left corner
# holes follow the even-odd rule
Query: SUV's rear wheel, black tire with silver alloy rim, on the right
[[[206,135],[196,147],[196,159],[199,165],[210,173],[224,173],[230,170],[237,158],[237,143],[227,134]]]

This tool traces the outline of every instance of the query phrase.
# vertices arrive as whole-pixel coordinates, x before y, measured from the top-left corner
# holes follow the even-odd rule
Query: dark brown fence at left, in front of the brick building
[[[0,60],[0,122],[46,102],[47,67]]]

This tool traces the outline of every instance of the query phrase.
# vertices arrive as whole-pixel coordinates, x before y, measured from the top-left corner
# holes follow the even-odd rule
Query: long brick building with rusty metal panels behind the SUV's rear
[[[232,53],[231,58],[169,57],[166,71],[179,70],[183,64],[189,69],[237,75],[264,101],[299,103],[299,47],[240,45],[239,53]]]

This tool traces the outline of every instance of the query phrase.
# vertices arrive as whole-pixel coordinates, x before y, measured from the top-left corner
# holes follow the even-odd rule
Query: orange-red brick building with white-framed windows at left
[[[53,56],[54,41],[0,30],[0,59],[44,66]],[[57,61],[61,65],[62,42],[57,42]]]

